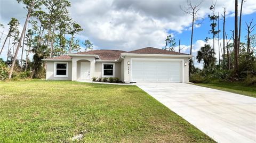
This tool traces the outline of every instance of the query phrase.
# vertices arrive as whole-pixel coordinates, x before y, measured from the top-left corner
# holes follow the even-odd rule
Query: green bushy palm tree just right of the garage
[[[215,62],[216,58],[214,57],[214,51],[209,44],[205,44],[201,49],[197,52],[197,62],[204,62],[204,68],[207,68],[212,63]]]

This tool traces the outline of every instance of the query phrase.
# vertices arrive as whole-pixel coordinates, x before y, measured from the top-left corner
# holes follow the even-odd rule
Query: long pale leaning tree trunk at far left
[[[17,46],[17,48],[16,48],[16,52],[15,52],[15,55],[14,55],[14,58],[13,58],[13,61],[12,61],[12,66],[11,66],[11,70],[10,70],[10,73],[9,73],[9,79],[12,78],[12,72],[13,72],[13,69],[14,69],[15,60],[16,60],[17,55],[18,55],[18,52],[19,52],[21,40],[22,40],[23,35],[24,35],[24,33],[25,33],[25,29],[26,29],[26,27],[27,27],[27,23],[28,23],[28,20],[29,20],[29,17],[30,17],[30,13],[31,13],[31,11],[32,11],[32,9],[33,9],[33,7],[34,7],[34,1],[35,1],[35,0],[32,1],[32,4],[31,4],[31,6],[30,6],[30,8],[29,8],[29,11],[28,11],[28,14],[27,14],[27,18],[26,18],[25,24],[24,24],[24,26],[23,26],[23,30],[22,30],[22,32],[21,32],[21,36],[20,36],[20,39],[19,39],[19,43],[18,43],[18,46]]]

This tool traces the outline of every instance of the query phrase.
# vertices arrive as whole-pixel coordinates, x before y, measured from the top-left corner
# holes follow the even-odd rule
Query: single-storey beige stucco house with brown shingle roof
[[[188,82],[193,55],[146,47],[130,52],[99,49],[46,58],[46,80],[91,81],[117,77],[130,82]]]

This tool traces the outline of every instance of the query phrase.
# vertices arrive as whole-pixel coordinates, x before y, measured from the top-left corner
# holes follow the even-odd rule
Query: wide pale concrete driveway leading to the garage
[[[217,142],[256,142],[256,98],[186,83],[136,83]]]

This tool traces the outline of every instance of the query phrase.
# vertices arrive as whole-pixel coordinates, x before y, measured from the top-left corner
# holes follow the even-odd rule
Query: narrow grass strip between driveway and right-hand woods
[[[229,82],[215,83],[214,82],[214,83],[197,83],[195,85],[233,92],[235,94],[256,97],[256,86],[247,86],[247,85],[244,85],[243,83],[229,83]]]

